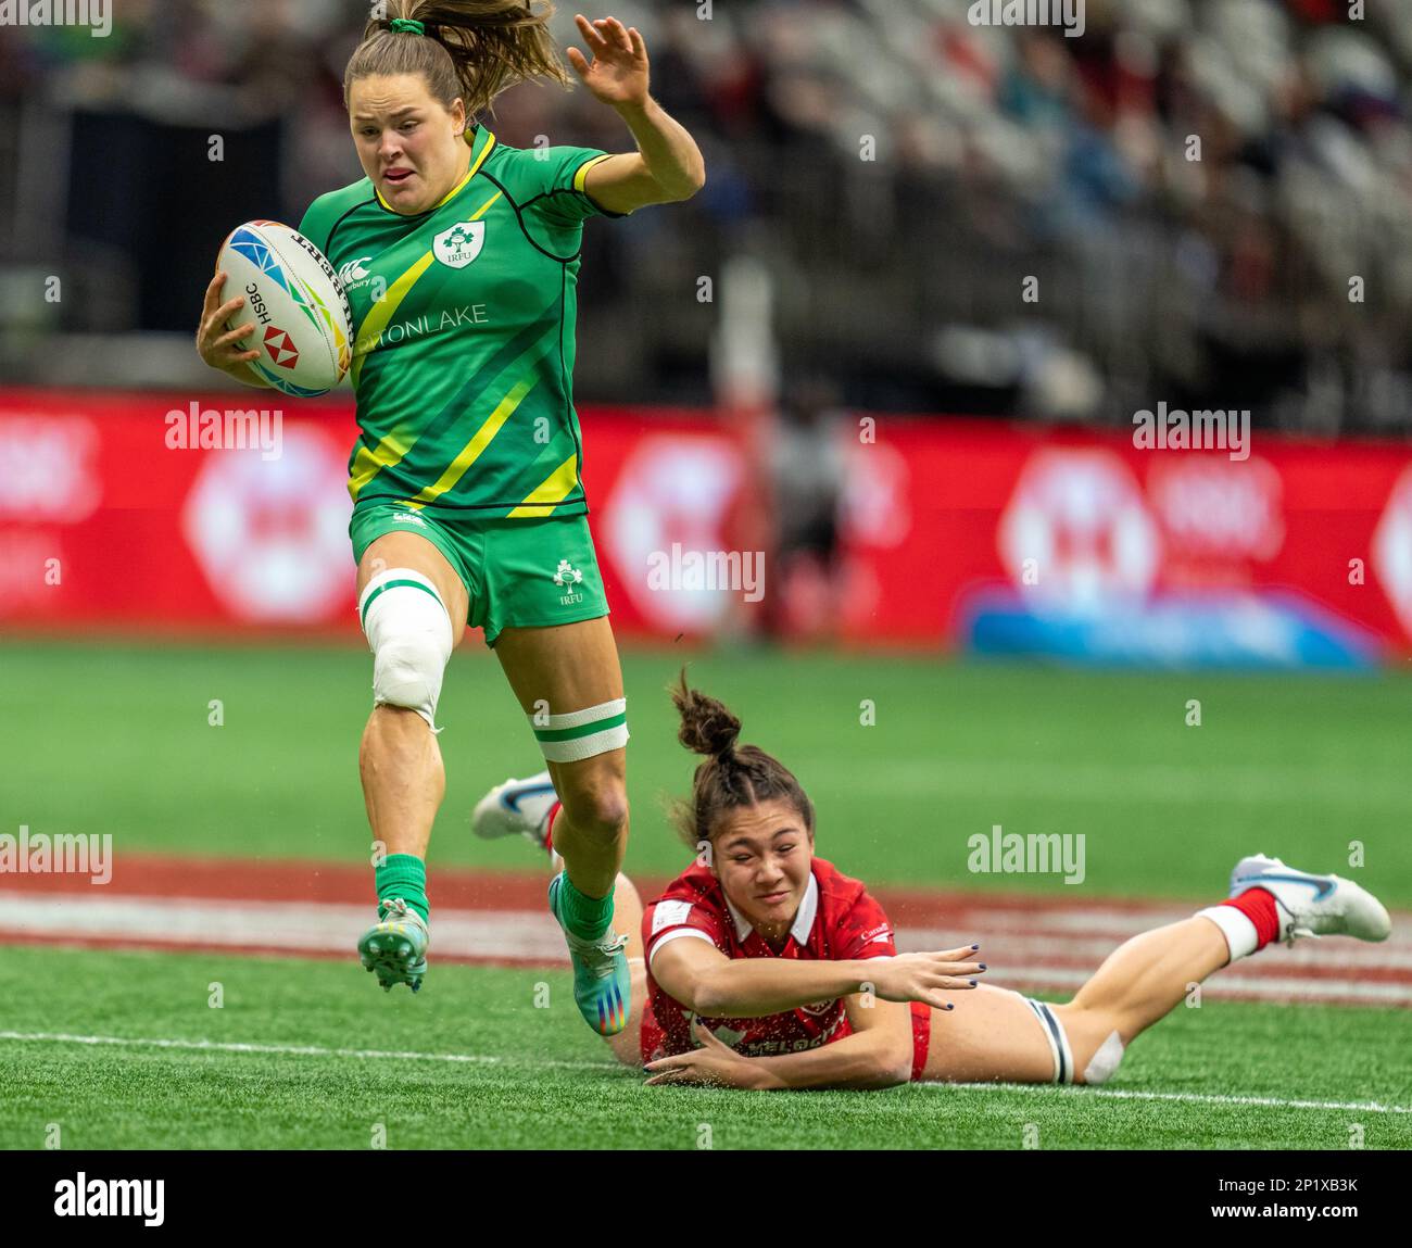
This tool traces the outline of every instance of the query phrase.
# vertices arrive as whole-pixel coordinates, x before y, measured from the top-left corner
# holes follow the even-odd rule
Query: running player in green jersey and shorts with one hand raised
[[[378,6],[380,8],[384,6]],[[575,998],[602,1035],[630,1011],[613,891],[627,847],[623,676],[589,535],[573,409],[583,222],[682,200],[700,151],[648,95],[642,37],[576,16],[593,59],[568,52],[637,151],[520,150],[480,116],[537,75],[572,86],[545,25],[517,0],[391,0],[345,73],[360,182],[319,196],[299,230],[339,271],[353,311],[359,439],[349,462],[359,617],[374,707],[360,771],[378,922],[359,942],[384,988],[426,970],[426,846],[445,793],[435,713],[466,624],[484,628],[558,795],[549,887]],[[198,349],[258,384],[223,326],[241,299],[206,292]]]

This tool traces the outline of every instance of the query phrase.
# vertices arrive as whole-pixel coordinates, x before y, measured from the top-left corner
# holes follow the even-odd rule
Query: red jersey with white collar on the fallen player
[[[726,901],[707,867],[683,871],[642,913],[648,1008],[642,1014],[642,1060],[652,1062],[695,1048],[690,1011],[652,978],[652,957],[671,940],[709,940],[727,957],[791,957],[844,961],[897,953],[892,925],[861,881],[815,858],[809,887],[795,913],[784,949],[775,953],[750,922]],[[923,1007],[925,1009],[925,1007]],[[816,1049],[851,1035],[842,998],[771,1014],[765,1018],[703,1018],[719,1039],[747,1057],[772,1057]]]

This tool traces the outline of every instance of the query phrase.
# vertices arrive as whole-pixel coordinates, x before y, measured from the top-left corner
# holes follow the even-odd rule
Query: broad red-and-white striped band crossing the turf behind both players
[[[548,871],[433,867],[436,960],[561,964],[546,884]],[[651,899],[665,881],[637,884]],[[997,981],[1060,990],[1082,983],[1128,936],[1219,899],[1219,894],[1183,904],[885,887],[874,895],[897,925],[901,947],[947,949],[979,940]],[[107,885],[72,874],[6,872],[0,896],[0,943],[352,960],[364,909],[369,918],[373,911],[373,872],[326,861],[123,854]],[[261,940],[265,930],[281,932],[281,943]],[[1210,988],[1228,998],[1412,1007],[1412,915],[1395,916],[1394,933],[1377,946],[1300,942],[1293,950],[1240,963]]]

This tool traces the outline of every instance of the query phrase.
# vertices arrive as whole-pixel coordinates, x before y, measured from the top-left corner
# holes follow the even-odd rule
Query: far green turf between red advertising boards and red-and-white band
[[[681,654],[631,652],[628,870],[683,864],[661,796],[693,760],[662,693]],[[357,741],[371,668],[357,648],[0,644],[0,829],[112,833],[114,850],[366,861]],[[1093,894],[1202,898],[1264,850],[1340,870],[1412,905],[1412,680],[1385,676],[1087,675],[925,658],[690,656],[695,683],[746,740],[794,768],[819,810],[818,851],[870,884],[1063,889],[969,875],[967,837],[1084,833]],[[860,704],[875,724],[860,723]],[[1202,726],[1187,727],[1197,699]],[[208,709],[220,702],[222,727]],[[479,640],[441,702],[446,805],[431,864],[525,868],[466,816],[505,775],[539,768],[528,726]]]

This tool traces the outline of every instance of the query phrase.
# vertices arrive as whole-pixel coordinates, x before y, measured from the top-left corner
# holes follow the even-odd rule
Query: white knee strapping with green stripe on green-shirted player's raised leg
[[[373,651],[373,704],[405,706],[436,727],[436,699],[450,659],[452,627],[436,586],[421,572],[391,568],[359,599]]]

